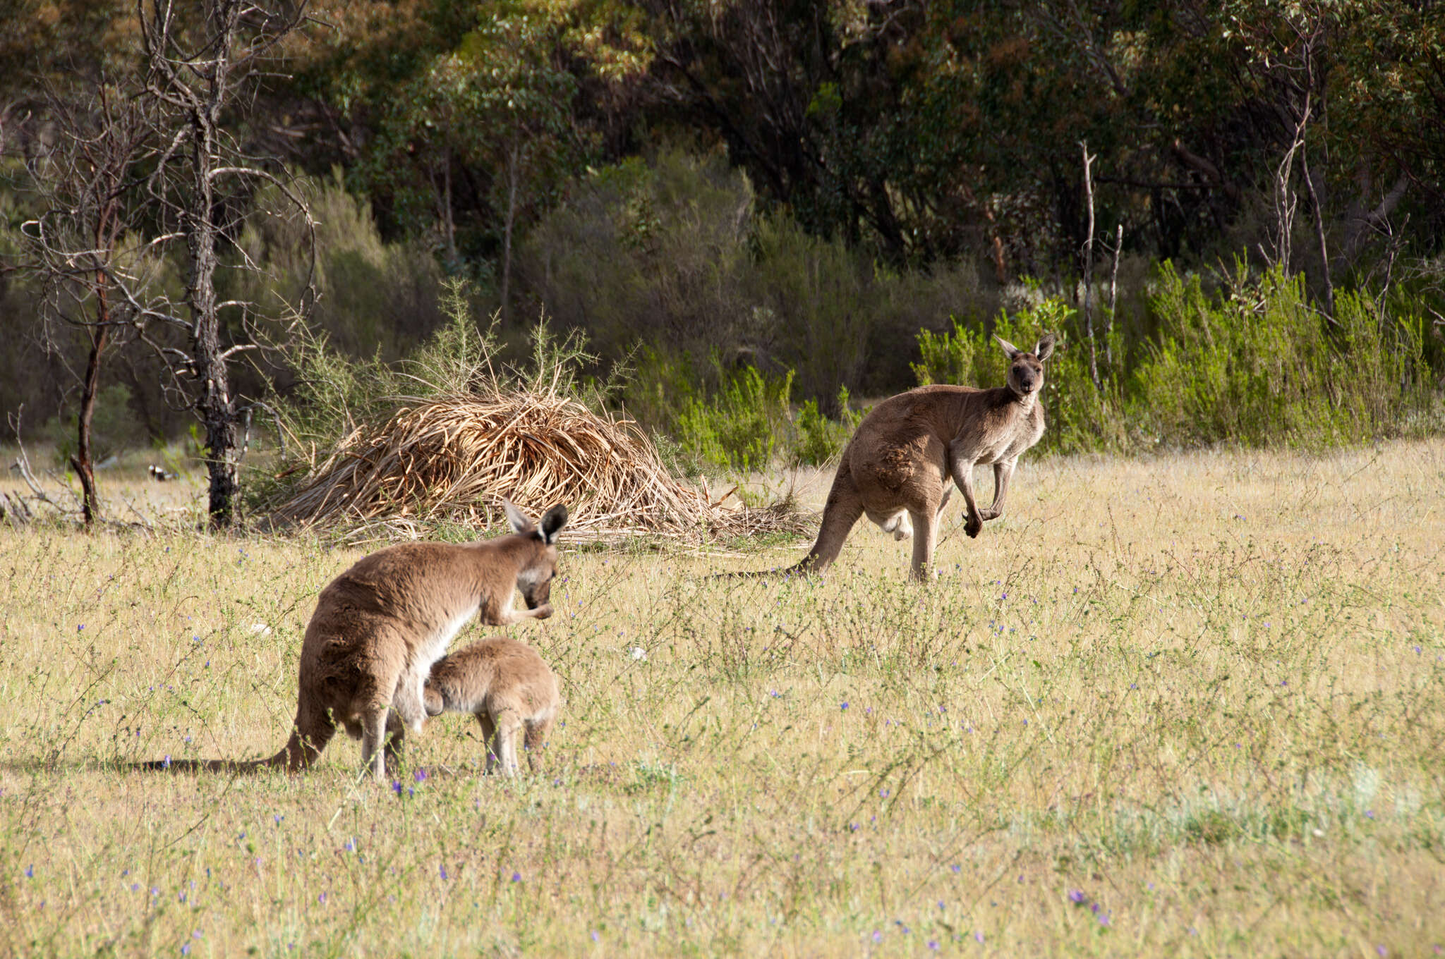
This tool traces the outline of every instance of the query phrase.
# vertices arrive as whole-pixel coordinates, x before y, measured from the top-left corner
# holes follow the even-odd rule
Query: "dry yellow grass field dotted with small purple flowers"
[[[279,748],[364,550],[0,526],[0,955],[1445,947],[1445,442],[1026,461],[1010,501],[949,507],[926,586],[864,524],[819,581],[566,552],[513,631],[564,683],[545,773],[442,716],[390,787],[344,737],[124,765]]]

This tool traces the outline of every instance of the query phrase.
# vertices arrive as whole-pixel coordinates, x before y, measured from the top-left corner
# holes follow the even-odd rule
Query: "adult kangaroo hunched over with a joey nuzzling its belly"
[[[473,615],[480,612],[487,625],[552,615],[555,543],[566,507],[548,510],[540,529],[506,500],[503,508],[510,536],[461,544],[397,543],[357,560],[321,591],[301,644],[296,719],[280,752],[247,763],[143,765],[303,770],[341,725],[361,739],[361,761],[384,781],[406,729],[418,732],[426,722],[422,689],[432,663]],[[513,589],[522,592],[526,611],[513,609]]]

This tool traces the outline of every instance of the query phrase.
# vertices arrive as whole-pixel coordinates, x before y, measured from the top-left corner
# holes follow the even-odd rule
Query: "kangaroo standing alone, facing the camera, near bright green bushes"
[[[853,524],[867,514],[894,539],[913,537],[913,578],[926,578],[938,514],[952,492],[949,477],[964,494],[970,537],[978,536],[984,520],[1003,516],[1019,455],[1043,436],[1039,391],[1053,337],[1039,339],[1033,352],[1001,338],[998,345],[1009,354],[1007,386],[920,386],[874,406],[842,451],[814,547],[796,566],[770,572],[827,569]],[[974,501],[974,464],[994,468],[994,501],[987,510]]]

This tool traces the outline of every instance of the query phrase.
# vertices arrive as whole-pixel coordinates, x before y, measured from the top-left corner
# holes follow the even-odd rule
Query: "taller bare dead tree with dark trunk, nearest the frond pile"
[[[306,204],[273,165],[267,169],[264,157],[246,150],[227,120],[244,113],[276,68],[282,40],[305,22],[305,1],[140,0],[136,9],[140,100],[156,133],[142,191],[160,230],[152,244],[182,247],[186,277],[178,302],[149,287],[127,305],[140,338],[165,361],[171,390],[201,420],[210,516],[214,526],[225,526],[234,514],[241,425],[250,415],[230,368],[257,348],[250,337],[257,316],[251,303],[217,295],[217,270],[227,256],[247,266],[233,241],[249,201],[266,183],[305,220],[314,241]],[[296,312],[309,308],[311,289],[308,282]]]

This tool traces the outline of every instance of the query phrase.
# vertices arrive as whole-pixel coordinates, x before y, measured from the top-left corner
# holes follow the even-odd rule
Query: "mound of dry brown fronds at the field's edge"
[[[790,508],[744,508],[725,504],[727,494],[712,501],[705,487],[670,477],[634,423],[546,389],[403,400],[384,425],[355,428],[314,462],[279,497],[273,520],[416,536],[438,520],[500,524],[503,497],[532,516],[566,504],[564,539],[574,540],[801,529]]]

